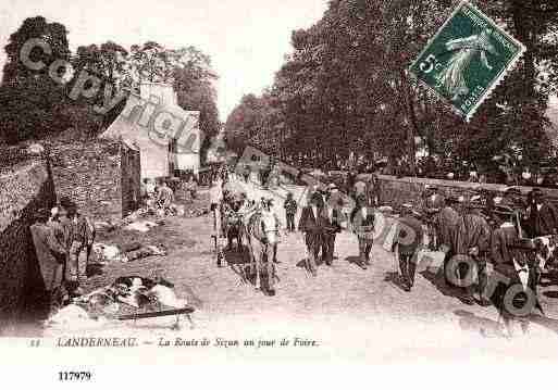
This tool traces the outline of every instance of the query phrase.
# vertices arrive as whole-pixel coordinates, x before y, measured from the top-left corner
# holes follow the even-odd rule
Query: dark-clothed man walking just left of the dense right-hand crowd
[[[394,241],[396,253],[399,255],[399,269],[401,281],[407,292],[414,285],[414,271],[417,269],[417,252],[422,243],[422,223],[419,214],[412,210],[412,204],[404,204],[401,217],[397,221],[397,234]]]

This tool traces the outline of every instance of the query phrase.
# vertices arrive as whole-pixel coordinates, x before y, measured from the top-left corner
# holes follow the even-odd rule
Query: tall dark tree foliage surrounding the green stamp
[[[318,23],[293,33],[293,53],[273,86],[259,98],[245,97],[231,114],[227,138],[237,149],[268,142],[322,165],[351,151],[392,161],[414,155],[418,137],[438,161],[469,161],[491,171],[493,156],[504,151],[521,154],[536,169],[550,152],[546,105],[558,86],[556,5],[475,2],[528,52],[466,123],[407,74],[457,3],[330,1]]]

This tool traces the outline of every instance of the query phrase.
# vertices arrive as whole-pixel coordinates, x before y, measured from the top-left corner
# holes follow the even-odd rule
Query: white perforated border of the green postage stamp
[[[418,63],[419,59],[422,58],[422,55],[429,50],[429,47],[431,46],[431,43],[433,43],[436,38],[439,36],[439,34],[442,34],[442,30],[444,29],[444,27],[446,27],[446,25],[454,18],[454,16],[459,13],[461,11],[462,8],[464,7],[468,7],[470,8],[476,15],[481,16],[483,20],[486,20],[486,22],[488,22],[491,24],[491,26],[495,29],[495,30],[498,30],[500,34],[503,34],[505,36],[506,39],[509,39],[513,45],[516,45],[519,50],[518,52],[516,53],[516,55],[509,61],[509,64],[501,70],[501,72],[494,78],[494,81],[491,83],[489,87],[486,89],[486,91],[482,95],[481,99],[479,99],[476,101],[476,103],[471,108],[471,110],[469,111],[468,114],[466,114],[462,110],[458,109],[456,105],[452,105],[450,103],[448,103],[448,100],[445,96],[441,95],[435,88],[431,87],[427,83],[425,83],[424,80],[422,80],[418,75],[416,75],[411,70],[412,67]],[[497,25],[493,20],[492,17],[489,17],[488,15],[486,15],[483,11],[481,11],[476,5],[470,3],[468,0],[461,0],[459,2],[459,4],[456,7],[456,9],[451,12],[451,14],[447,17],[447,20],[444,22],[444,24],[442,24],[442,26],[437,29],[436,34],[434,34],[434,36],[432,38],[430,38],[426,42],[426,45],[424,46],[424,48],[420,51],[419,55],[417,55],[417,58],[414,59],[414,61],[411,62],[411,64],[409,65],[408,67],[408,72],[409,72],[409,75],[416,79],[417,81],[419,81],[419,84],[425,86],[430,91],[433,91],[435,96],[438,97],[438,99],[446,105],[446,106],[449,106],[449,109],[454,112],[456,112],[459,116],[461,117],[464,117],[466,122],[470,122],[472,116],[476,113],[476,110],[479,109],[479,106],[481,106],[482,103],[484,103],[484,101],[486,99],[489,99],[492,97],[492,93],[494,92],[494,89],[496,89],[501,80],[506,77],[506,75],[509,73],[509,72],[512,72],[516,67],[517,67],[517,63],[518,61],[521,59],[521,56],[524,54],[524,52],[526,51],[526,47],[521,42],[519,41],[518,39],[516,39],[516,37],[513,37],[510,33],[508,33],[508,30],[506,29],[506,27],[504,26],[499,26]]]

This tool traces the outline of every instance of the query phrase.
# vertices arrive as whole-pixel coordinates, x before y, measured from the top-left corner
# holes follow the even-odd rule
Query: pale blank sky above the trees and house
[[[271,86],[292,51],[290,34],[318,22],[327,0],[2,0],[0,68],[10,34],[42,15],[69,30],[70,48],[113,40],[125,48],[148,40],[169,48],[195,46],[209,54],[221,121],[246,93]]]

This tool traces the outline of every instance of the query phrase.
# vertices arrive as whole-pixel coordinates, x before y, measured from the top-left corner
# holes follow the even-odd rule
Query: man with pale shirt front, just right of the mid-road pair
[[[359,240],[359,266],[367,269],[370,265],[370,252],[374,242],[374,209],[368,205],[367,197],[357,198],[357,209],[351,215],[352,231]]]

